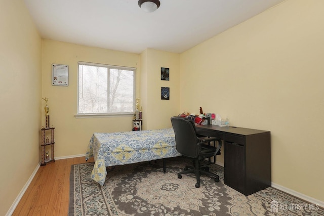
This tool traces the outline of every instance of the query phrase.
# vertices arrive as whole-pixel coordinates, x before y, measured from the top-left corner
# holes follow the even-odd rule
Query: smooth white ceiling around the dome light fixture
[[[46,39],[131,53],[182,53],[285,0],[24,0]]]

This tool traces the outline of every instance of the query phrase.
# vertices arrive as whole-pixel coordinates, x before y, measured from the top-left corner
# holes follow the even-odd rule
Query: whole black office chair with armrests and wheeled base
[[[176,149],[183,156],[193,158],[193,166],[185,166],[184,171],[178,173],[178,178],[182,178],[182,174],[194,173],[197,183],[196,188],[200,187],[200,174],[205,174],[215,178],[215,182],[219,182],[219,176],[209,172],[209,167],[201,167],[200,161],[215,156],[222,146],[219,138],[198,138],[196,135],[196,127],[194,122],[183,117],[172,117],[172,127],[176,135]],[[217,148],[207,145],[210,142],[218,141]]]

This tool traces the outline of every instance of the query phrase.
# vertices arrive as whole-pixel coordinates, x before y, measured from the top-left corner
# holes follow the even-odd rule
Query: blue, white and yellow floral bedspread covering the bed
[[[94,157],[91,178],[100,185],[105,183],[106,166],[124,165],[142,161],[177,157],[173,128],[147,131],[93,134],[86,160]]]

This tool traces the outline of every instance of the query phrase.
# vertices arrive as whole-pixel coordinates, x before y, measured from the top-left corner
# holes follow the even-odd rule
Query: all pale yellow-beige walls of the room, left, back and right
[[[169,127],[171,116],[203,107],[228,116],[232,125],[271,131],[272,182],[324,201],[323,1],[289,0],[181,55],[152,49],[138,55],[47,39],[41,50],[23,1],[0,1],[0,171],[6,174],[0,177],[0,215],[39,164],[42,97],[49,98],[56,127],[55,157],[85,154],[94,132],[132,128],[132,117],[74,117],[77,61],[137,68],[144,129]],[[68,87],[51,85],[53,63],[69,66]],[[160,67],[170,68],[170,81],[160,80]],[[160,87],[170,87],[170,101],[160,100]]]

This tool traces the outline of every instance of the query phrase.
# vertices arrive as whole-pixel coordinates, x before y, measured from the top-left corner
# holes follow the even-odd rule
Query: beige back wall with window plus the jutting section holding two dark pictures
[[[42,50],[42,97],[49,98],[50,125],[53,124],[55,127],[56,158],[85,154],[89,140],[95,132],[109,133],[132,129],[132,116],[106,118],[74,116],[77,103],[78,61],[136,67],[136,97],[140,98],[140,106],[143,107],[143,128],[171,127],[170,116],[176,115],[180,106],[179,54],[148,49],[138,55],[48,39],[43,39]],[[141,61],[140,57],[143,57]],[[143,64],[143,72],[140,63]],[[69,66],[68,87],[52,85],[52,64]],[[160,67],[170,68],[170,81],[160,80]],[[160,99],[161,87],[170,87],[172,95],[169,101]],[[45,101],[42,102],[42,107],[44,106]],[[42,123],[45,124],[44,110],[42,110]]]

